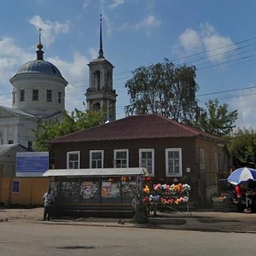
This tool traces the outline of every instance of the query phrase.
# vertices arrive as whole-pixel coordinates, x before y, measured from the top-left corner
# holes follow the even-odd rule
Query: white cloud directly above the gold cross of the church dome
[[[29,20],[32,26],[37,29],[42,28],[42,38],[44,39],[43,44],[49,46],[55,42],[55,38],[59,34],[66,34],[70,31],[70,22],[60,23],[59,21],[43,20],[40,16],[35,15]]]

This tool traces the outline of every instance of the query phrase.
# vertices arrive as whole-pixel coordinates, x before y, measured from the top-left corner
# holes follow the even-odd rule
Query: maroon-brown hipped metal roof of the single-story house
[[[167,137],[205,137],[224,142],[222,139],[189,125],[167,119],[160,114],[135,115],[98,125],[84,131],[77,131],[58,137],[49,143],[73,143],[90,141],[113,141]]]

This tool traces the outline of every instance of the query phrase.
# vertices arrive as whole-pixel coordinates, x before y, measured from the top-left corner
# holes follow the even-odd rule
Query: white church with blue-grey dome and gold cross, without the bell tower
[[[65,110],[67,81],[60,70],[44,61],[39,37],[37,59],[20,67],[9,79],[13,86],[12,108],[0,106],[0,145],[20,144],[32,148],[38,120],[61,119]]]

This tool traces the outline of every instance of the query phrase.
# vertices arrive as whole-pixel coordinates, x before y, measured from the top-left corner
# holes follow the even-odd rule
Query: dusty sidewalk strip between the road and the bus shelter
[[[148,224],[136,224],[133,219],[119,218],[53,218],[41,221],[44,208],[8,209],[0,208],[0,222],[33,222],[40,224],[92,225],[102,227],[126,227],[167,230],[197,230],[212,232],[242,232],[256,234],[256,213],[240,212],[157,212],[149,217]],[[0,223],[1,224],[1,223]]]

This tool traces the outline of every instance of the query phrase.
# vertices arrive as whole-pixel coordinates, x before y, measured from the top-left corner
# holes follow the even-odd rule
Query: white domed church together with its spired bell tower
[[[32,149],[32,130],[38,127],[38,121],[61,120],[65,111],[65,87],[68,83],[55,65],[44,61],[41,34],[37,48],[37,59],[26,62],[9,79],[13,86],[12,108],[0,105],[0,146],[20,144]],[[87,108],[101,109],[106,121],[113,121],[116,119],[117,94],[113,90],[113,65],[103,55],[102,19],[99,55],[88,66],[90,86],[84,94]]]

